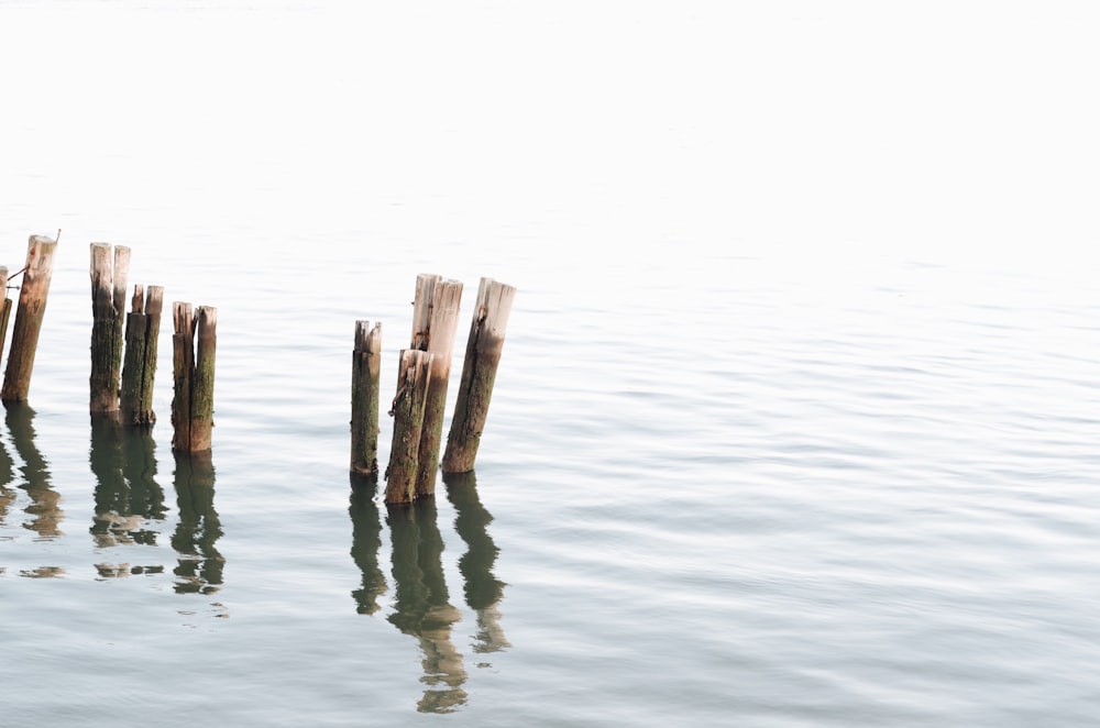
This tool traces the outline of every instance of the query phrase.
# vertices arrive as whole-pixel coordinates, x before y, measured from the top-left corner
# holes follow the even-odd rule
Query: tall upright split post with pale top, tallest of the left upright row
[[[92,243],[90,247],[92,320],[88,409],[92,415],[102,415],[119,411],[130,249],[110,243]]]

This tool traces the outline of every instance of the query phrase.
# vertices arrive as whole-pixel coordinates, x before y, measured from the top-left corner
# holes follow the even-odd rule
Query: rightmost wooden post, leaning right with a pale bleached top
[[[515,297],[515,287],[492,278],[481,279],[462,363],[462,379],[443,452],[444,473],[465,473],[474,468]]]

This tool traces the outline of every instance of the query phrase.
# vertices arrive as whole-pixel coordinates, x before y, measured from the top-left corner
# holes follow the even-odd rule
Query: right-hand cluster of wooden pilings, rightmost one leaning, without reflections
[[[394,432],[385,472],[387,504],[407,504],[433,495],[437,470],[473,470],[515,295],[513,286],[481,279],[447,448],[440,459],[462,284],[435,274],[417,276],[413,337],[408,349],[400,350],[397,393],[389,408]],[[381,353],[382,324],[356,321],[351,470],[374,476],[378,474]]]

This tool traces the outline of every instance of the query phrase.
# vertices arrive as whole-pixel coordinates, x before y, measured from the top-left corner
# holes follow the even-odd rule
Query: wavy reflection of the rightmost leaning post
[[[506,584],[493,574],[493,565],[501,550],[488,534],[492,522],[485,506],[477,497],[477,476],[473,472],[444,474],[447,497],[454,506],[454,530],[466,543],[466,552],[459,559],[466,606],[477,615],[477,642],[474,652],[498,652],[512,647],[501,629],[501,600]]]

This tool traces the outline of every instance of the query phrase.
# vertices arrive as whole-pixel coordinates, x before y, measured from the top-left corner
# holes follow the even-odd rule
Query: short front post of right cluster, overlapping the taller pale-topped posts
[[[424,427],[424,407],[431,377],[428,352],[403,349],[397,373],[397,395],[389,415],[394,440],[386,467],[386,503],[411,503],[416,497],[417,453]]]

